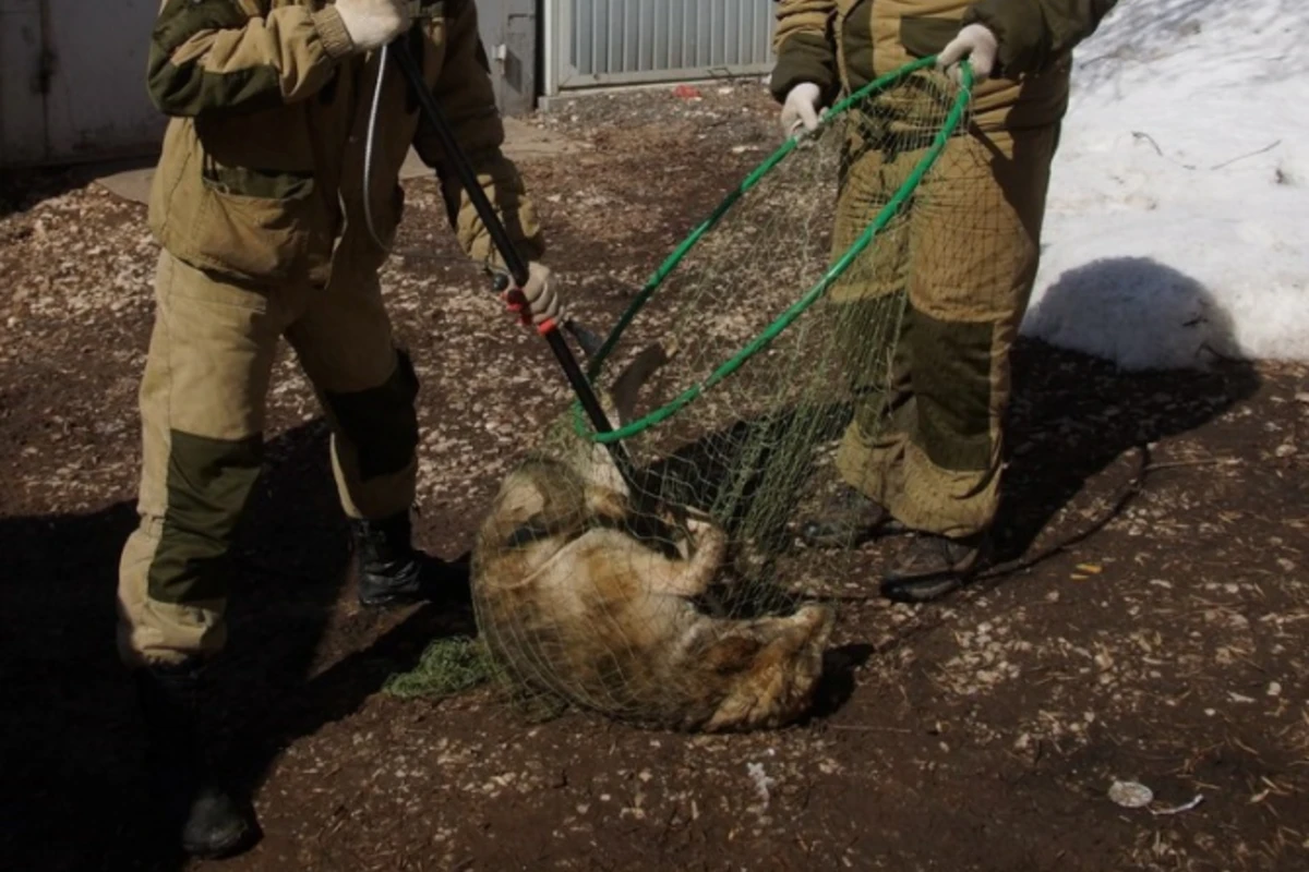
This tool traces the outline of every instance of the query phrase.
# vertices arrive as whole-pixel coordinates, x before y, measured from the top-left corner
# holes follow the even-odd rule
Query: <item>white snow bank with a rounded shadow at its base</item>
[[[1309,361],[1309,4],[1123,0],[1079,50],[1022,332]]]

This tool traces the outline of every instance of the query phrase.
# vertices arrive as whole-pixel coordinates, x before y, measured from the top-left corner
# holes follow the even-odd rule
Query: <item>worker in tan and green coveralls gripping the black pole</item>
[[[556,318],[550,272],[537,261],[535,214],[501,153],[473,0],[165,0],[152,34],[149,93],[171,120],[149,204],[162,254],[140,388],[140,526],[120,565],[119,647],[145,714],[161,814],[195,855],[234,852],[255,833],[249,808],[206,765],[196,715],[199,667],[224,645],[228,552],[259,473],[280,337],[331,425],[359,597],[368,605],[427,597],[440,569],[410,541],[418,380],[393,340],[377,277],[386,259],[378,243],[390,244],[401,218],[398,173],[411,144],[442,180],[463,250],[488,268],[503,264],[394,68],[364,190],[377,50],[406,30],[530,261],[516,302],[538,324]]]

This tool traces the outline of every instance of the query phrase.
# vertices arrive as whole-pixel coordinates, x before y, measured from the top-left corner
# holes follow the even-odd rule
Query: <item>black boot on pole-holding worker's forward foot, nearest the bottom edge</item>
[[[132,677],[145,718],[147,771],[169,838],[206,859],[249,847],[258,834],[254,814],[217,782],[199,737],[199,669],[145,667]]]

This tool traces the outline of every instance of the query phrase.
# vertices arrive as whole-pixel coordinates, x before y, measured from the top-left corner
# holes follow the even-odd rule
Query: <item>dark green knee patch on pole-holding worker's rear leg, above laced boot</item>
[[[342,435],[355,447],[365,481],[402,471],[418,448],[418,374],[408,354],[397,350],[395,369],[382,384],[363,391],[326,392]]]

